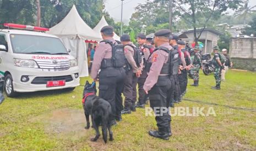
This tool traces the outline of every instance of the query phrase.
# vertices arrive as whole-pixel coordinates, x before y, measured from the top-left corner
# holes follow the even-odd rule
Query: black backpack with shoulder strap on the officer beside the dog
[[[126,57],[124,56],[124,46],[116,41],[113,43],[111,40],[102,40],[101,42],[105,42],[110,44],[112,47],[112,62],[115,68],[124,67],[126,65]]]

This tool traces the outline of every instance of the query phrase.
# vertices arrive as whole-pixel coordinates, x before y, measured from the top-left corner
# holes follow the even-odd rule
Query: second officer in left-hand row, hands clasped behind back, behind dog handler
[[[138,77],[141,75],[143,62],[138,66],[134,60],[134,48],[136,47],[132,42],[130,42],[129,34],[123,34],[120,38],[122,44],[124,45],[124,55],[128,61],[128,66],[131,67],[127,71],[126,78],[124,79],[124,90],[123,94],[126,97],[124,100],[124,109],[121,114],[130,114],[133,104],[135,104],[134,97],[137,96],[136,86],[138,82]]]

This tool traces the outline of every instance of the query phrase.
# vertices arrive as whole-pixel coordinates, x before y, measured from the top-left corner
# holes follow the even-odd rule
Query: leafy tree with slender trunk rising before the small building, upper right
[[[203,33],[210,19],[220,18],[228,8],[237,9],[241,0],[176,0],[175,7],[181,18],[193,26],[194,41]]]

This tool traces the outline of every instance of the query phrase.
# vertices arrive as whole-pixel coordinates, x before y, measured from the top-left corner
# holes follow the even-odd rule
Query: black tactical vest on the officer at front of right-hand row
[[[170,58],[170,50],[166,47],[158,47],[156,48],[153,53],[157,50],[163,50],[165,51],[166,53],[168,53],[168,61],[166,63],[164,63],[164,65],[162,66],[162,69],[161,69],[161,72],[160,74],[171,74],[171,69],[170,69],[170,66],[171,66],[171,58]],[[152,54],[153,54],[152,53]],[[152,55],[150,54],[150,56]],[[149,58],[150,58],[149,56]],[[152,63],[149,61],[149,59],[146,61],[146,65],[145,65],[145,71],[146,72],[149,72],[150,71],[150,67],[152,66]]]

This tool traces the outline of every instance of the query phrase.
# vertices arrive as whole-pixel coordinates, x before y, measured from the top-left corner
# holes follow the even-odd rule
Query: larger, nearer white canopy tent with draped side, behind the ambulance
[[[62,39],[70,54],[77,59],[80,77],[88,77],[88,60],[85,40],[101,40],[101,35],[92,30],[78,14],[75,5],[59,24],[50,28],[47,33]]]

